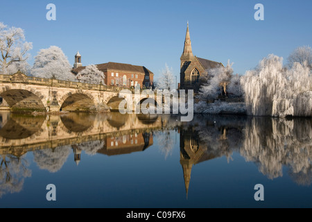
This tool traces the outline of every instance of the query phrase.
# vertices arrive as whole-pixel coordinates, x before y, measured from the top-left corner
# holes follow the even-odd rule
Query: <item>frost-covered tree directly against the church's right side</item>
[[[209,70],[207,83],[200,87],[199,96],[205,99],[216,99],[219,94],[227,94],[227,85],[232,77],[232,64],[227,61],[227,66],[216,67]]]

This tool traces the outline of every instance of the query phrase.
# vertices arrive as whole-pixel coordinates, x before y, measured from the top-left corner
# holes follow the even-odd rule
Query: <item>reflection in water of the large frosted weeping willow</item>
[[[256,162],[268,178],[283,175],[283,165],[300,185],[311,185],[311,119],[253,118],[245,128],[241,155]]]

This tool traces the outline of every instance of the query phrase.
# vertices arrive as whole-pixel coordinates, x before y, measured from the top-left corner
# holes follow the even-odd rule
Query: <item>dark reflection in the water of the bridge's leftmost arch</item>
[[[44,116],[29,116],[25,118],[24,116],[11,114],[10,119],[0,129],[0,137],[6,139],[25,139],[31,137],[41,130],[45,119],[46,117]]]

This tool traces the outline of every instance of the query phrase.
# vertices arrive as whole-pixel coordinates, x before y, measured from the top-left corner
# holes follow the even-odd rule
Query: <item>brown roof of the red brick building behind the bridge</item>
[[[107,62],[103,64],[96,65],[99,70],[101,71],[107,71],[107,70],[114,70],[114,71],[129,71],[133,73],[141,73],[141,74],[153,74],[152,71],[148,70],[144,66],[138,66],[138,65],[130,65],[125,63],[118,63],[118,62]],[[78,74],[79,71],[85,69],[85,67],[78,67],[76,69],[73,69],[73,73]]]

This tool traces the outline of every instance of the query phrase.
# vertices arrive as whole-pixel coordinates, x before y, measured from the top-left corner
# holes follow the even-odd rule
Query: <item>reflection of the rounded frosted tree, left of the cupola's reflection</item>
[[[59,146],[54,149],[34,151],[34,161],[40,169],[46,169],[51,173],[59,171],[71,153],[71,146]]]

